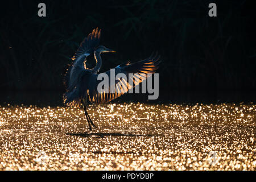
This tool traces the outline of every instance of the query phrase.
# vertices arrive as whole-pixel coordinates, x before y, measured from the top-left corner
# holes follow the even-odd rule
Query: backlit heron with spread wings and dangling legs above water
[[[64,77],[64,85],[66,92],[63,95],[64,104],[71,107],[84,106],[85,117],[89,124],[89,130],[92,130],[92,126],[97,128],[96,125],[90,119],[86,110],[87,101],[89,100],[94,104],[103,104],[114,100],[115,98],[126,93],[127,90],[134,88],[143,80],[146,80],[149,76],[148,73],[155,73],[159,68],[159,57],[157,53],[151,55],[147,59],[131,64],[127,63],[118,65],[114,68],[115,76],[118,73],[124,73],[127,78],[129,76],[133,79],[133,84],[124,79],[115,80],[114,83],[109,82],[109,88],[114,86],[114,92],[98,92],[97,86],[100,80],[97,80],[98,72],[101,68],[101,53],[115,52],[112,49],[105,46],[99,46],[101,37],[101,30],[94,29],[80,44],[75,56],[72,57],[73,63],[69,65]],[[86,57],[94,53],[94,59],[96,60],[96,66],[92,69],[86,68]],[[110,77],[110,71],[105,72]],[[129,74],[133,73],[133,74]],[[138,77],[137,74],[143,74]],[[119,87],[118,87],[119,86]],[[91,126],[92,125],[92,126]]]

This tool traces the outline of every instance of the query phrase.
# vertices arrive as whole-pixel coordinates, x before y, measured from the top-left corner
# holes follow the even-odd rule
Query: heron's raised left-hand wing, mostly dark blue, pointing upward
[[[80,44],[75,56],[72,57],[73,63],[69,65],[64,76],[64,85],[68,91],[72,91],[79,81],[82,71],[86,69],[86,57],[94,52],[100,43],[101,30],[94,29]]]

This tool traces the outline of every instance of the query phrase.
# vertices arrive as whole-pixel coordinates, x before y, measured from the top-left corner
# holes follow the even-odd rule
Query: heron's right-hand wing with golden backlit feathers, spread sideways
[[[155,73],[160,64],[159,57],[160,56],[157,55],[151,55],[148,57],[148,59],[139,61],[137,63],[130,64],[130,62],[127,62],[115,67],[114,76],[116,77],[118,73],[123,73],[125,74],[127,80],[120,77],[117,80],[115,79],[115,81],[112,83],[110,81],[110,71],[105,72],[106,75],[108,75],[109,84],[108,88],[102,88],[101,90],[98,90],[98,84],[101,82],[101,80],[97,80],[98,75],[92,75],[90,78],[90,88],[88,92],[90,102],[102,104],[122,96],[122,94],[126,93],[129,89],[146,80],[150,76],[148,74]],[[133,80],[133,82],[129,82],[129,79]]]

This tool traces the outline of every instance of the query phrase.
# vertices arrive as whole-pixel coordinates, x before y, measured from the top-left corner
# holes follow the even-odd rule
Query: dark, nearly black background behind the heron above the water
[[[211,2],[217,17],[208,16]],[[117,51],[102,55],[101,71],[160,53],[158,101],[256,100],[253,1],[6,1],[0,10],[0,103],[61,104],[65,69],[96,27],[101,44]]]

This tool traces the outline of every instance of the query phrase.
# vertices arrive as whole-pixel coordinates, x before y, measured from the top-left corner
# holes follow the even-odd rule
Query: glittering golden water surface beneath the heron
[[[1,106],[0,169],[256,167],[253,104],[108,104],[88,113],[99,127],[92,133],[84,133],[82,109]]]

